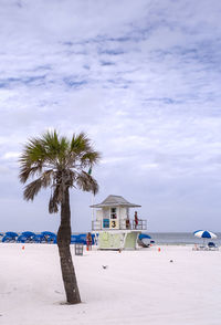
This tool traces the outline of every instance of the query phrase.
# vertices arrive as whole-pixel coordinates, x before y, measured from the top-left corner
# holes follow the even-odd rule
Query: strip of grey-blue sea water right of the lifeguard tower
[[[193,244],[202,243],[203,239],[194,237],[191,232],[148,232],[156,243],[160,244]],[[221,245],[221,233],[215,232],[217,239],[207,239]]]

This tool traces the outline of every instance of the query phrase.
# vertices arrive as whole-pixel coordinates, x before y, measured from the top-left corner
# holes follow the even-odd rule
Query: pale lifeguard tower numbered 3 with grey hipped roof
[[[136,249],[139,233],[147,229],[147,221],[138,216],[138,222],[135,222],[129,209],[139,207],[120,196],[108,196],[102,203],[91,206],[96,209],[92,231],[98,233],[99,250]]]

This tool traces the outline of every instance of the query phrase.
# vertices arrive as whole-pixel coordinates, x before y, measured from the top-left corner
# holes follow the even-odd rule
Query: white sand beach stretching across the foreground
[[[0,244],[1,325],[221,324],[221,251],[72,247],[83,303],[65,305],[56,245],[22,247]]]

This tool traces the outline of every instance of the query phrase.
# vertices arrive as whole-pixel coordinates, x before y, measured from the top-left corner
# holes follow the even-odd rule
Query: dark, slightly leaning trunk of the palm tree
[[[76,282],[71,243],[71,210],[69,188],[64,192],[64,199],[61,205],[61,224],[57,232],[57,247],[61,260],[62,277],[66,293],[66,301],[70,304],[81,303],[80,291]]]

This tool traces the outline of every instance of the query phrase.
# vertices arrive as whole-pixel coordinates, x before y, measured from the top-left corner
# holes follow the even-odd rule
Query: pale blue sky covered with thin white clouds
[[[0,0],[0,231],[56,231],[50,189],[23,200],[30,137],[85,132],[95,203],[140,205],[148,231],[221,231],[221,2]],[[91,193],[71,193],[72,231]],[[131,217],[133,217],[131,211]]]

